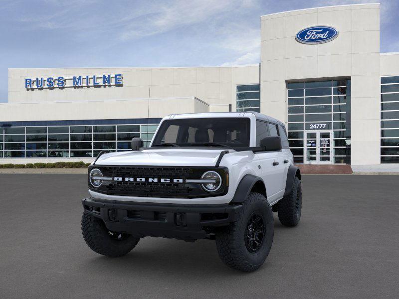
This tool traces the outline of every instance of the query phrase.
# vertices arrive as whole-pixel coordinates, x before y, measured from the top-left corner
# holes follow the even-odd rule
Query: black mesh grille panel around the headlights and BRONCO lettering
[[[172,197],[172,198],[194,198],[206,196],[218,196],[227,192],[224,178],[227,169],[224,167],[154,167],[154,166],[91,166],[99,168],[103,176],[108,177],[131,177],[142,178],[144,181],[104,181],[98,188],[93,188],[89,182],[89,188],[96,192],[110,195],[140,196],[140,197]],[[186,179],[199,179],[208,170],[219,172],[222,177],[222,187],[216,192],[204,191],[200,184],[185,183]],[[158,178],[157,182],[150,178]],[[170,182],[161,182],[161,178],[168,178]],[[183,183],[174,182],[174,179],[182,179]]]

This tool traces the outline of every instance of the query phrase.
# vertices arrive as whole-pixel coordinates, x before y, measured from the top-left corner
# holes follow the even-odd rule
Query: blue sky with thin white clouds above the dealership
[[[228,66],[260,62],[260,16],[378,0],[0,0],[0,102],[8,68]],[[381,0],[381,52],[399,51],[399,0]]]

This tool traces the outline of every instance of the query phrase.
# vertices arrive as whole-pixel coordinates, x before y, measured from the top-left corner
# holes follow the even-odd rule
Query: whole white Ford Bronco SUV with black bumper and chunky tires
[[[169,115],[148,148],[100,152],[88,169],[82,232],[95,252],[119,257],[140,238],[216,241],[221,260],[258,269],[283,225],[301,217],[301,174],[285,126],[256,112]]]

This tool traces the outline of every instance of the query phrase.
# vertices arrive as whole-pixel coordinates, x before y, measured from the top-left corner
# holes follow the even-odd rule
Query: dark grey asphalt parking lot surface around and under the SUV
[[[398,298],[399,176],[304,175],[302,219],[241,273],[213,241],[144,238],[127,256],[80,231],[84,174],[0,174],[1,298]]]

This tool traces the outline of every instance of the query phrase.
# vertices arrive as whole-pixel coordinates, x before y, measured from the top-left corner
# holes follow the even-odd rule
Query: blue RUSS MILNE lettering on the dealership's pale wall
[[[73,77],[47,77],[26,78],[26,89],[63,88],[63,87],[89,87],[123,85],[123,75],[86,75]]]

